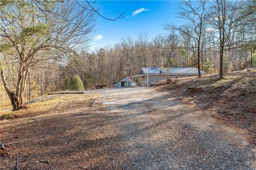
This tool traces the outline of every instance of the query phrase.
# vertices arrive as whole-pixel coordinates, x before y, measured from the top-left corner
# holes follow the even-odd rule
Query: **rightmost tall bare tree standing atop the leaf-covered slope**
[[[231,41],[231,36],[236,36],[238,31],[237,26],[241,23],[239,21],[247,18],[247,16],[251,14],[255,14],[255,11],[243,12],[241,11],[243,7],[245,8],[245,4],[248,2],[232,2],[226,0],[217,0],[211,3],[211,12],[207,21],[211,24],[211,27],[216,29],[217,31],[213,31],[213,35],[218,39],[219,43],[219,74],[220,78],[223,77],[223,56],[225,50],[230,50],[232,46],[234,47],[237,43],[245,43],[246,39],[239,38]],[[243,28],[240,27],[242,30]],[[238,35],[239,36],[239,35]]]

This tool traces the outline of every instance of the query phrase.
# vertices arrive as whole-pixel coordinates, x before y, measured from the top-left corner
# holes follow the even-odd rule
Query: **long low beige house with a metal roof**
[[[204,75],[205,72],[201,71]],[[189,68],[158,68],[153,66],[151,68],[142,68],[140,74],[132,75],[132,80],[137,80],[140,86],[149,86],[152,82],[161,81],[164,79],[178,79],[186,77],[197,77],[198,69]],[[140,82],[140,83],[139,83]]]

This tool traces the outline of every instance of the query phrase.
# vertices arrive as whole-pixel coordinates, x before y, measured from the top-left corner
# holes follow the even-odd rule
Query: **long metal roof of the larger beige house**
[[[198,74],[198,69],[189,67],[179,67],[179,68],[142,68],[140,74]],[[201,71],[201,74],[205,74]]]

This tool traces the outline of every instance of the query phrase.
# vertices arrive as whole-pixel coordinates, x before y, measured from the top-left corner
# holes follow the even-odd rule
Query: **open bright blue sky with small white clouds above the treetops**
[[[108,21],[97,16],[90,49],[114,45],[123,37],[135,39],[140,33],[148,33],[150,39],[168,33],[163,29],[164,24],[186,23],[177,16],[179,4],[180,1],[97,1],[94,8],[100,7],[99,12],[107,18],[116,18],[119,12],[125,11],[126,18]],[[133,14],[134,11],[137,12]]]

